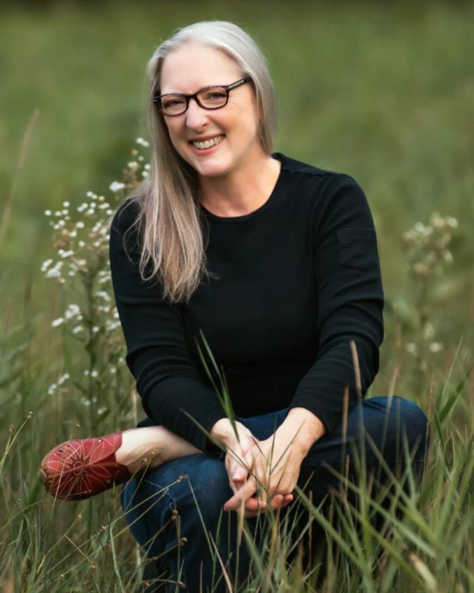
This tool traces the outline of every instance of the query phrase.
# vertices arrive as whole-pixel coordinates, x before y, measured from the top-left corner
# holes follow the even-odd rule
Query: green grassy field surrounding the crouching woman
[[[365,189],[387,300],[371,394],[407,396],[431,422],[425,480],[410,498],[395,495],[405,515],[385,517],[391,537],[371,529],[376,507],[364,488],[359,534],[344,501],[341,534],[310,509],[339,550],[329,546],[323,559],[321,591],[474,590],[473,7],[178,0],[1,11],[0,592],[139,590],[143,558],[118,493],[54,501],[38,465],[60,440],[141,416],[114,309],[97,294],[111,290],[92,230],[102,210],[77,208],[100,195],[113,208],[120,196],[108,187],[130,172],[130,151],[146,162],[135,144],[146,137],[146,61],[177,26],[208,18],[245,26],[265,49],[279,105],[275,149]],[[49,222],[69,215],[66,226],[84,221],[82,237],[53,245]],[[82,249],[85,262],[63,284],[45,277],[61,248]],[[286,542],[275,541],[248,591],[314,590],[314,575],[287,569]]]

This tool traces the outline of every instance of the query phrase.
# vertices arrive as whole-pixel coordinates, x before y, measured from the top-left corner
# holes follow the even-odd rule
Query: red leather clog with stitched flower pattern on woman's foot
[[[122,433],[115,433],[54,447],[41,462],[45,488],[56,498],[80,500],[126,482],[130,471],[115,459],[121,444]]]

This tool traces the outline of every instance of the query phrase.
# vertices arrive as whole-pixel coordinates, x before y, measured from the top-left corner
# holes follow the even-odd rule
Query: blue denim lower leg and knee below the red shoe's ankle
[[[130,480],[122,504],[135,539],[148,557],[160,557],[170,580],[184,582],[192,593],[224,592],[214,546],[231,580],[245,578],[249,565],[245,546],[236,545],[237,514],[222,510],[231,495],[224,461],[195,454]],[[169,583],[163,590],[183,589]]]

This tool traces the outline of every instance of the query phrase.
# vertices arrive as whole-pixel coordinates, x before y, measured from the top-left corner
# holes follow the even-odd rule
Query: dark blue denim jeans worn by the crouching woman
[[[280,410],[239,420],[263,440],[275,432],[286,413]],[[349,412],[346,431],[340,427],[313,445],[303,461],[298,485],[319,505],[328,489],[339,488],[331,468],[344,473],[348,456],[349,478],[354,482],[360,459],[367,473],[380,474],[374,445],[390,471],[398,474],[404,469],[408,445],[415,472],[422,472],[427,439],[427,417],[412,401],[399,397],[363,400]],[[169,575],[170,582],[160,591],[183,591],[173,581],[185,583],[190,593],[224,592],[216,549],[224,564],[228,562],[231,580],[247,578],[250,557],[245,544],[236,545],[238,516],[234,511],[222,511],[231,495],[222,456],[205,453],[170,461],[126,484],[122,505],[130,530],[148,557],[158,557]],[[248,521],[251,528],[256,521]]]

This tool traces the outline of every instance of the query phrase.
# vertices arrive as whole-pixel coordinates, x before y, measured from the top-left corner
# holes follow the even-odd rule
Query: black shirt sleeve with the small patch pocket
[[[364,396],[379,370],[383,288],[374,222],[352,178],[331,176],[316,201],[312,224],[318,348],[290,407],[312,411],[331,432],[342,422],[345,393],[349,409],[358,401],[356,373]]]

